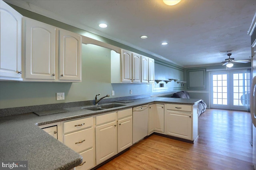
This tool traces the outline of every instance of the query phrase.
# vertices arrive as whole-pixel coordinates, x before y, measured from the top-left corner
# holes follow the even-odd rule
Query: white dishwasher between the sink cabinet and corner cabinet
[[[148,135],[148,104],[132,109],[132,144]]]

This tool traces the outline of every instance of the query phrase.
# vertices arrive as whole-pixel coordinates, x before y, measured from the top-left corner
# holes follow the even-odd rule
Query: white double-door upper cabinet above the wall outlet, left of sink
[[[26,18],[26,81],[81,82],[81,36]]]

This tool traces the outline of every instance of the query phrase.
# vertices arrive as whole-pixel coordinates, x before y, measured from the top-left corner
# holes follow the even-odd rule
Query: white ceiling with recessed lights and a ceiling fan
[[[235,60],[251,56],[247,31],[255,0],[182,0],[176,6],[162,0],[5,1],[183,67],[220,63],[228,58],[220,51],[232,50]],[[98,27],[101,22],[108,27]]]

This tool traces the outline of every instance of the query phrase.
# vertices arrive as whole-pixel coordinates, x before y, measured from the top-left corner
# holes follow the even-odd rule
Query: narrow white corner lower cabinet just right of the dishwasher
[[[148,107],[148,134],[164,132],[164,104],[150,104]]]

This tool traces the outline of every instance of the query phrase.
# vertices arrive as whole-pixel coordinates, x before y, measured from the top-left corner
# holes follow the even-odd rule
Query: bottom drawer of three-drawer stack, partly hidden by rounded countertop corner
[[[75,170],[89,170],[94,167],[94,149],[88,149],[80,155],[83,157],[83,162],[81,165],[76,166]]]

